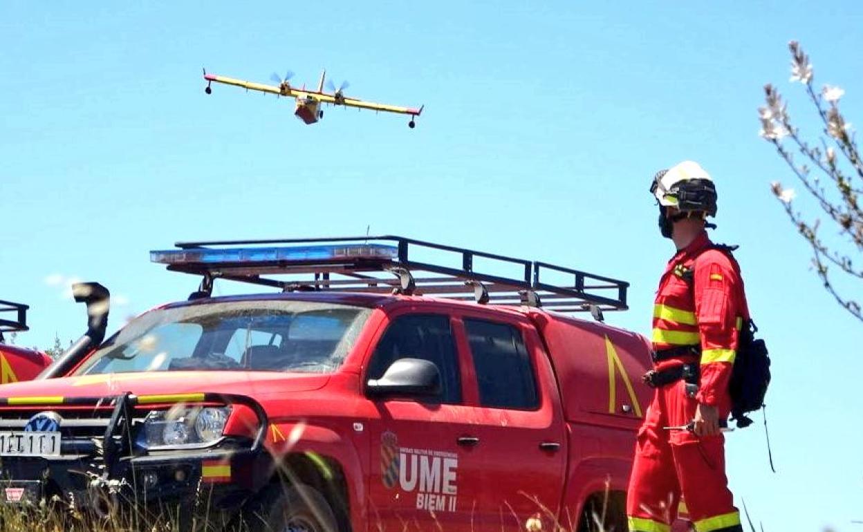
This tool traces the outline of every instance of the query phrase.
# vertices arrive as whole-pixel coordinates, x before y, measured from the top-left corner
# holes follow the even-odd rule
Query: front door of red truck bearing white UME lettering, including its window
[[[438,366],[438,397],[369,397],[369,531],[476,531],[479,491],[471,473],[474,448],[463,404],[462,365],[450,316],[402,314],[376,343],[363,382],[380,379],[395,360],[429,360]],[[461,360],[460,360],[461,359]]]

